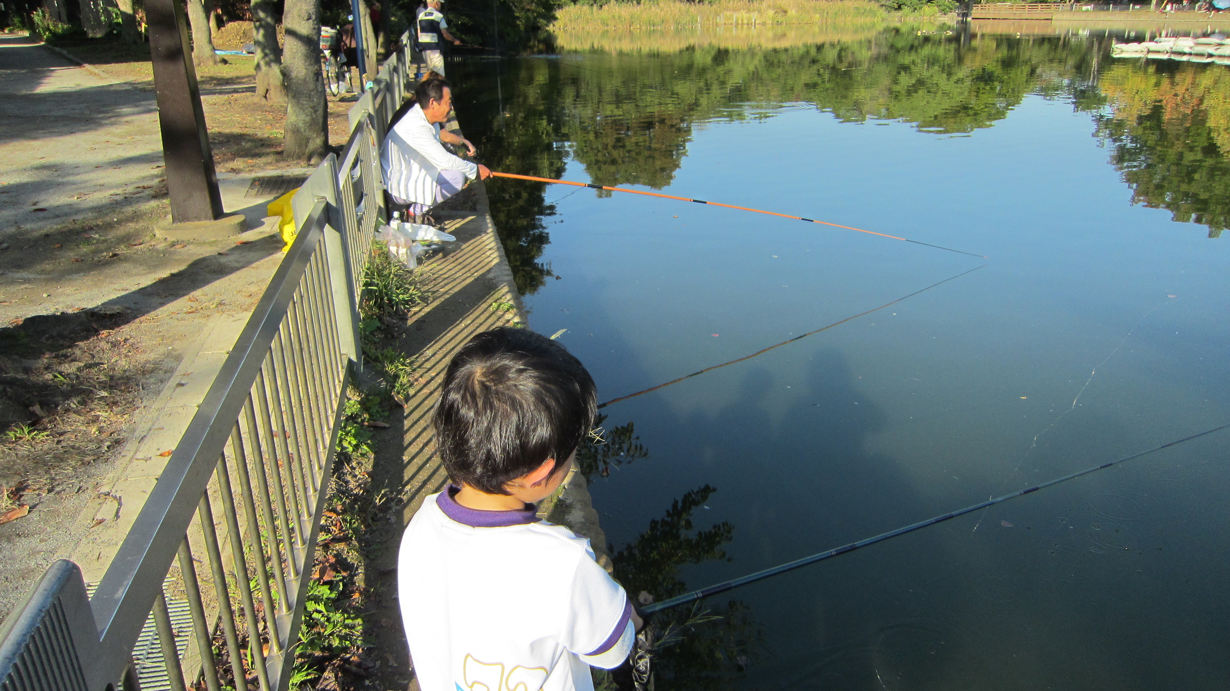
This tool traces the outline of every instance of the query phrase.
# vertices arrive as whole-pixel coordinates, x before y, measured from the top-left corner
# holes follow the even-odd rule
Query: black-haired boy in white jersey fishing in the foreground
[[[453,358],[433,418],[453,484],[424,499],[397,558],[419,689],[588,691],[589,665],[627,658],[641,618],[624,589],[534,508],[595,411],[585,368],[531,331],[480,333]]]

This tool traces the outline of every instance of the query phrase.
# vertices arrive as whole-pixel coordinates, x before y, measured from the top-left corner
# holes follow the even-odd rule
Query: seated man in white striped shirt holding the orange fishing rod
[[[449,154],[442,143],[465,146],[471,156],[474,144],[440,128],[453,108],[453,90],[442,76],[430,75],[415,89],[415,106],[389,129],[380,146],[380,165],[392,202],[408,210],[419,223],[427,209],[456,194],[466,180],[487,180],[491,171]]]

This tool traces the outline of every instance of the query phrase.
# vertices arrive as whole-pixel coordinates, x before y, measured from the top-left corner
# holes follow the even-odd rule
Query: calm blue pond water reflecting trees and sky
[[[458,114],[493,170],[986,258],[492,182],[531,327],[603,401],[862,315],[603,408],[583,465],[631,591],[1230,422],[1230,66],[1096,33],[727,38],[461,59]],[[1228,456],[1224,430],[674,610],[657,687],[1230,687]]]

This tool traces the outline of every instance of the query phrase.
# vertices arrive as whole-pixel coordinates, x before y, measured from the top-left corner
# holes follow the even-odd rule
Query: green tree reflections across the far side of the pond
[[[982,33],[962,45],[956,34],[920,34],[911,26],[862,36],[818,31],[812,42],[796,37],[795,45],[747,49],[664,48],[652,34],[632,49],[635,37],[609,47],[587,37],[576,43],[582,50],[560,59],[461,61],[458,114],[493,170],[558,178],[571,159],[590,182],[662,189],[706,123],[815,108],[850,123],[970,133],[1036,93],[1095,117],[1134,203],[1208,225],[1214,237],[1230,223],[1230,70],[1223,65],[1114,60],[1105,34]],[[572,45],[566,36],[557,44]],[[541,261],[546,219],[555,214],[546,187],[488,183],[523,294],[551,278]]]

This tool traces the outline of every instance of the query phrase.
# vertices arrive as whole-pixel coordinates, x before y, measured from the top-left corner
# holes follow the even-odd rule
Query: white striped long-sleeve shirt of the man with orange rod
[[[478,177],[478,166],[449,154],[440,144],[440,125],[427,122],[417,103],[392,125],[380,148],[389,193],[406,202],[435,203],[435,178],[440,171],[461,171]]]

